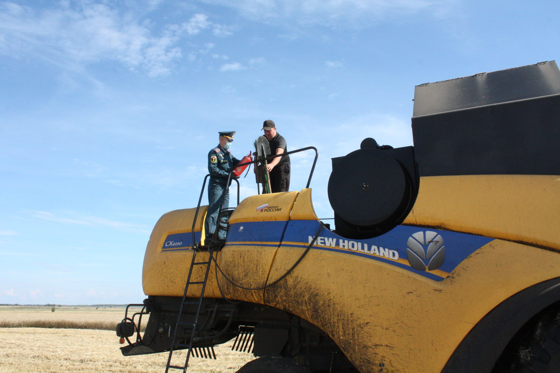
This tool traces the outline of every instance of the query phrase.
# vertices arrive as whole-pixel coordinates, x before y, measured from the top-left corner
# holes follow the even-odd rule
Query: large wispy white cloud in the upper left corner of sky
[[[155,6],[157,2],[148,5]],[[74,69],[115,60],[150,77],[167,75],[183,58],[181,40],[205,30],[218,36],[232,33],[202,13],[156,29],[141,11],[119,11],[116,4],[106,2],[57,2],[46,10],[0,4],[0,54],[35,56]]]

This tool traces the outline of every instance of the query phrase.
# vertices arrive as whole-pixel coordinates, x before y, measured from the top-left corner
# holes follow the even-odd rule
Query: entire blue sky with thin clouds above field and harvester
[[[217,131],[330,158],[412,145],[414,86],[560,57],[557,1],[0,2],[0,303],[137,303],[151,229]],[[292,190],[312,154],[292,156]],[[256,192],[241,179],[242,196]],[[162,270],[165,270],[162,268]]]

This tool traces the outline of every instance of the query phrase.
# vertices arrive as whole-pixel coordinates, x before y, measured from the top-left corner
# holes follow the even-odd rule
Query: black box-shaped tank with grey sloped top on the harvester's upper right
[[[419,176],[560,175],[560,71],[538,63],[414,91]]]

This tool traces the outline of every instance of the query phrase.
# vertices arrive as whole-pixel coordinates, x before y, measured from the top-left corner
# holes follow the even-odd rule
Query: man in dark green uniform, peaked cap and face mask
[[[231,142],[234,141],[235,131],[218,133],[220,134],[220,144],[208,153],[208,173],[210,174],[210,181],[208,183],[208,213],[204,221],[204,230],[206,230],[205,244],[211,242],[214,230],[216,230],[218,213],[220,213],[220,205],[224,193],[226,193],[226,199],[223,202],[222,208],[227,209],[229,206],[230,192],[228,191],[228,185],[226,185],[227,176],[231,169],[239,163],[239,160],[228,150],[230,149]],[[239,176],[232,174],[231,178],[239,178]],[[217,239],[225,238],[226,231],[218,231]]]

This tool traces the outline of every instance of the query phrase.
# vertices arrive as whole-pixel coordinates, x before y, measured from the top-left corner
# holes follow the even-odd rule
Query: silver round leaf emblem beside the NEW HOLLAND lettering
[[[432,271],[445,261],[444,239],[431,230],[414,233],[408,238],[407,259],[418,271]]]

